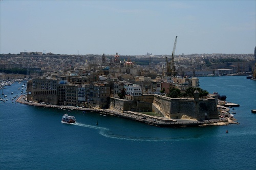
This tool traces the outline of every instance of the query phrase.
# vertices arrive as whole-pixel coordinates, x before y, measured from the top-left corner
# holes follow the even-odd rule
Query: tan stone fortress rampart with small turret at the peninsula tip
[[[214,98],[199,99],[195,91],[194,98],[168,98],[157,94],[143,94],[133,101],[111,98],[110,109],[116,111],[155,111],[167,118],[195,120],[219,119]]]

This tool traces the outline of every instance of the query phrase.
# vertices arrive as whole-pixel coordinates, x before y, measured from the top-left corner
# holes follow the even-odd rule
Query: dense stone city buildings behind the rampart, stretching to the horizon
[[[143,94],[168,94],[169,88],[185,91],[199,87],[195,76],[252,72],[248,55],[193,54],[175,56],[178,75],[166,76],[163,55],[54,55],[40,52],[1,55],[2,72],[23,69],[28,99],[56,105],[108,108],[111,97],[134,100]]]

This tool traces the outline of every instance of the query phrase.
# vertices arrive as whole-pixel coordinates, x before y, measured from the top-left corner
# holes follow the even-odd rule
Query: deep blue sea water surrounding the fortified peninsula
[[[256,169],[256,81],[200,77],[200,87],[240,104],[228,126],[160,128],[98,113],[0,103],[0,169]],[[11,94],[14,92],[14,94]],[[61,123],[64,113],[76,125]],[[96,125],[98,121],[99,125]],[[226,130],[228,129],[228,133]]]

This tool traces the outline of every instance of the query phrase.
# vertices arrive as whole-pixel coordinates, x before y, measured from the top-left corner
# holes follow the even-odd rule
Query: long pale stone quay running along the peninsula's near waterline
[[[20,95],[19,98],[16,99],[17,103],[32,105],[32,106],[39,106],[39,107],[49,107],[49,108],[58,108],[58,109],[73,109],[73,110],[81,110],[87,112],[98,112],[101,114],[118,116],[122,118],[127,118],[131,120],[135,120],[138,122],[145,123],[147,125],[153,125],[157,127],[188,127],[188,126],[205,126],[205,125],[227,125],[229,120],[227,118],[220,118],[220,119],[209,119],[209,120],[191,120],[191,119],[170,119],[166,117],[158,117],[152,116],[148,114],[132,112],[132,111],[125,111],[117,112],[110,109],[92,109],[92,108],[82,108],[82,107],[75,107],[75,106],[58,106],[58,105],[47,105],[47,104],[40,104],[40,103],[32,103],[30,101],[25,101],[24,95]]]

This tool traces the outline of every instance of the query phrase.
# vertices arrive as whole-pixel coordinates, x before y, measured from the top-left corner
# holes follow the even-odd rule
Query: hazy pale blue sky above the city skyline
[[[256,1],[0,1],[1,54],[251,54]]]

